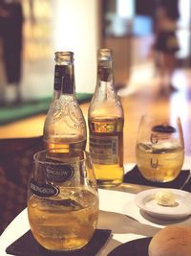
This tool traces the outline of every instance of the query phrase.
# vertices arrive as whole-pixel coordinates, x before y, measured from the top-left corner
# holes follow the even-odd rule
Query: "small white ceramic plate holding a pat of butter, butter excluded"
[[[178,220],[191,215],[191,193],[178,189],[167,189],[174,194],[176,205],[162,206],[155,199],[155,195],[161,190],[164,189],[150,189],[138,193],[135,197],[138,208],[158,219]]]

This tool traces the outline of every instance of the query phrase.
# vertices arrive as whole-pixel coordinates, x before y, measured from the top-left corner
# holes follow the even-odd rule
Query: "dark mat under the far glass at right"
[[[173,188],[173,189],[180,189],[180,187],[184,184],[187,177],[189,176],[190,171],[184,170],[180,172],[180,175],[176,177],[176,179],[169,181],[169,182],[153,182],[149,181],[146,178],[144,178],[139,170],[138,166],[136,165],[130,172],[128,172],[124,176],[124,182],[125,183],[134,183],[134,184],[140,184],[145,186],[154,186],[154,187],[161,187],[161,188]],[[182,190],[191,192],[191,178],[189,182],[182,188]]]

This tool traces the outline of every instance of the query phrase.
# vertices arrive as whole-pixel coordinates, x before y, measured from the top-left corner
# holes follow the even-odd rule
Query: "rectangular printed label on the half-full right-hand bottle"
[[[117,164],[118,137],[90,135],[90,153],[94,164]]]

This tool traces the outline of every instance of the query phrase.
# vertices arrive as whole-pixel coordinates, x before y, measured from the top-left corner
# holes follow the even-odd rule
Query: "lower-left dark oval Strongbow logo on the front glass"
[[[40,198],[51,198],[59,194],[59,189],[51,184],[38,184],[35,180],[31,180],[30,188],[32,194]]]

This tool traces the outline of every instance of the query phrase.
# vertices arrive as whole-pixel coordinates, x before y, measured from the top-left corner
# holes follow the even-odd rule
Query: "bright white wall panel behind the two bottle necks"
[[[53,50],[74,52],[76,91],[96,86],[96,50],[99,48],[97,0],[53,2]]]

